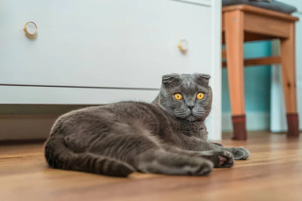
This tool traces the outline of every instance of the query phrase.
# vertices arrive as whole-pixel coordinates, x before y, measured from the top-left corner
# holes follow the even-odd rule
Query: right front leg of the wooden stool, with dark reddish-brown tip
[[[295,24],[290,26],[290,36],[282,39],[281,47],[281,69],[282,82],[287,117],[287,137],[299,137],[299,121],[297,113],[296,97],[296,75],[295,75]]]

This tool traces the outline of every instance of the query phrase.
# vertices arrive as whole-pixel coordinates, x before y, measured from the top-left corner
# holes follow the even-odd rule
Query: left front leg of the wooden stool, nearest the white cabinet
[[[224,14],[224,40],[226,69],[230,91],[234,140],[246,140],[246,115],[244,103],[244,14],[237,10]]]

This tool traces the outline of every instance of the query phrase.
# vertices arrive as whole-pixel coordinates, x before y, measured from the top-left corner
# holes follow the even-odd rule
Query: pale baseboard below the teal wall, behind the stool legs
[[[248,112],[247,130],[248,131],[268,131],[270,127],[269,112]],[[233,130],[231,113],[222,113],[222,131],[230,132]]]

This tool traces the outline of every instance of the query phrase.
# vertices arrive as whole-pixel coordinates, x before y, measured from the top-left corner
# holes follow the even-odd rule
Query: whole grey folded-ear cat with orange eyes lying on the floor
[[[212,90],[206,74],[162,77],[152,104],[120,102],[59,117],[45,143],[52,168],[110,176],[131,172],[207,175],[249,157],[245,148],[207,142]]]

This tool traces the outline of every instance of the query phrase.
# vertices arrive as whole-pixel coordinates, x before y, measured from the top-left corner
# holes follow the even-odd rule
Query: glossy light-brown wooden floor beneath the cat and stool
[[[225,146],[251,151],[209,176],[132,174],[129,178],[47,168],[42,144],[0,146],[0,200],[302,200],[302,136],[250,133]]]

